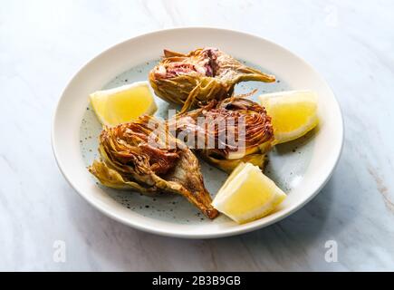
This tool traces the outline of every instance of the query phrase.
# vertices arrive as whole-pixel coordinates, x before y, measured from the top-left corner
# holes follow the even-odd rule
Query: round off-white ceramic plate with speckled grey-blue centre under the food
[[[151,198],[134,192],[101,187],[86,169],[97,158],[99,122],[90,110],[88,95],[102,88],[147,80],[149,69],[163,48],[188,52],[215,46],[248,65],[274,73],[278,82],[243,82],[235,92],[314,90],[319,95],[318,130],[278,146],[269,155],[265,173],[288,194],[280,208],[268,217],[245,225],[221,215],[204,218],[186,199],[167,195]],[[159,116],[168,103],[157,100]],[[87,63],[68,84],[53,121],[53,151],[62,174],[95,208],[130,227],[172,237],[225,237],[266,227],[302,208],[330,179],[340,154],[343,124],[338,102],[319,73],[283,47],[263,38],[213,28],[181,28],[144,34],[117,44]],[[226,174],[202,162],[207,189],[215,196]]]

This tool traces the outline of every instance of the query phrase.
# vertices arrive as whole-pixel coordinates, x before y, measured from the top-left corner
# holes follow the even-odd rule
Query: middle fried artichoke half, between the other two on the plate
[[[180,113],[168,121],[187,146],[207,162],[231,172],[240,162],[264,168],[274,130],[264,107],[245,98],[211,101],[194,111]]]

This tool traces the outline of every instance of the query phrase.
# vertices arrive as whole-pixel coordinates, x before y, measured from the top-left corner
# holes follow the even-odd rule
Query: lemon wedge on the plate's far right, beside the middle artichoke
[[[300,138],[319,122],[315,92],[266,93],[259,96],[259,101],[272,118],[275,144]]]

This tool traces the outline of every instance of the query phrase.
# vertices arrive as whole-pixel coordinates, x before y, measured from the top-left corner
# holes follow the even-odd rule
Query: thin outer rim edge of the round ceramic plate
[[[88,197],[88,195],[83,194],[82,190],[78,189],[78,186],[76,184],[74,184],[72,182],[72,179],[70,179],[70,177],[67,175],[67,173],[64,171],[63,167],[62,167],[62,161],[61,158],[59,156],[58,151],[56,150],[57,146],[56,146],[56,138],[55,138],[55,124],[56,124],[56,120],[57,120],[57,116],[59,115],[59,111],[61,103],[62,103],[62,99],[65,98],[66,92],[68,91],[68,88],[71,87],[72,82],[74,82],[80,75],[80,73],[82,73],[85,68],[87,68],[91,63],[94,63],[97,59],[99,59],[101,57],[102,54],[105,53],[109,53],[111,52],[111,50],[116,49],[117,47],[124,45],[125,43],[130,42],[131,40],[138,40],[139,38],[143,38],[146,37],[148,35],[152,36],[154,34],[163,34],[163,33],[170,33],[172,31],[180,31],[180,30],[206,30],[206,31],[210,31],[210,30],[216,30],[217,32],[225,32],[225,33],[230,33],[230,34],[245,34],[245,36],[248,37],[253,37],[253,38],[257,38],[259,40],[263,40],[266,43],[270,43],[271,45],[274,45],[280,49],[282,49],[283,51],[285,51],[286,53],[289,53],[292,55],[292,57],[298,59],[299,61],[301,61],[304,65],[306,65],[308,67],[308,69],[310,69],[312,71],[312,73],[314,73],[315,75],[319,76],[322,80],[322,82],[324,82],[324,84],[327,86],[327,88],[330,90],[330,92],[332,92],[332,97],[333,97],[333,101],[334,104],[337,106],[337,109],[339,111],[339,117],[340,117],[340,124],[341,127],[338,128],[340,130],[340,146],[339,149],[335,152],[336,156],[335,156],[335,161],[332,164],[332,168],[330,169],[330,173],[325,177],[325,179],[323,180],[323,182],[320,184],[320,186],[308,197],[305,198],[303,200],[303,202],[299,203],[298,205],[294,206],[293,208],[291,208],[290,210],[288,210],[287,212],[283,213],[282,215],[273,218],[272,220],[266,221],[264,223],[261,224],[256,224],[256,223],[249,223],[249,224],[245,224],[245,225],[241,225],[244,227],[231,227],[231,228],[226,228],[225,230],[221,230],[220,232],[216,232],[216,233],[207,233],[207,234],[199,234],[199,233],[181,233],[178,231],[168,231],[165,229],[161,229],[161,228],[155,228],[155,227],[144,227],[143,225],[140,225],[140,223],[133,223],[132,220],[128,220],[125,218],[120,218],[118,216],[118,214],[114,213],[111,210],[108,210],[107,208],[102,208],[100,207],[98,204],[96,204],[92,198]],[[273,225],[276,222],[279,222],[281,220],[283,220],[283,218],[287,218],[290,215],[292,215],[294,212],[298,211],[299,209],[303,208],[308,202],[310,202],[312,200],[312,198],[314,198],[321,190],[322,188],[327,184],[327,182],[332,178],[332,174],[334,169],[337,167],[338,162],[341,158],[341,153],[342,153],[342,149],[343,149],[343,142],[344,142],[344,121],[343,121],[343,116],[342,116],[342,111],[341,111],[341,105],[338,102],[334,92],[332,91],[332,87],[329,85],[329,83],[325,80],[325,78],[323,78],[322,74],[317,72],[310,63],[306,62],[305,60],[303,60],[302,57],[298,56],[297,54],[293,53],[291,50],[287,49],[286,47],[284,47],[281,44],[275,43],[267,38],[264,38],[262,36],[256,35],[256,34],[250,34],[250,33],[246,33],[244,31],[239,31],[239,30],[234,30],[234,29],[226,29],[226,28],[219,28],[219,27],[211,27],[211,26],[185,26],[185,27],[177,27],[177,28],[168,28],[168,29],[159,29],[159,30],[154,30],[151,31],[149,33],[145,33],[145,34],[137,34],[133,37],[130,37],[126,40],[121,41],[120,43],[116,43],[114,45],[109,46],[108,48],[104,49],[101,53],[96,54],[93,58],[91,58],[91,60],[89,60],[88,62],[84,63],[81,68],[72,75],[72,78],[69,80],[69,82],[67,82],[67,85],[63,88],[62,90],[62,94],[61,97],[58,99],[57,103],[56,103],[56,107],[54,110],[54,114],[53,114],[53,121],[52,121],[52,130],[51,130],[51,144],[52,144],[52,149],[53,149],[53,155],[54,158],[56,160],[56,164],[58,166],[58,168],[60,169],[62,176],[64,177],[64,179],[67,180],[67,182],[72,186],[72,189],[74,189],[80,196],[82,196],[83,199],[85,199],[89,204],[91,204],[91,206],[93,208],[98,209],[99,211],[101,211],[101,213],[105,214],[107,217],[112,218],[116,221],[119,221],[120,223],[127,225],[129,227],[133,227],[139,230],[142,230],[144,232],[149,232],[152,234],[157,234],[160,236],[165,236],[165,237],[181,237],[181,238],[192,238],[192,239],[200,239],[200,238],[217,238],[217,237],[230,237],[230,236],[235,236],[235,235],[241,235],[241,234],[245,234],[247,232],[256,230],[256,229],[260,229],[263,227],[268,227],[270,225]]]

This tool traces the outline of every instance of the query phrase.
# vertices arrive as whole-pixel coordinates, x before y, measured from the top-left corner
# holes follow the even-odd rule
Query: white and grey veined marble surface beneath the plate
[[[393,11],[389,1],[2,1],[0,270],[394,270]],[[150,235],[91,208],[57,169],[53,111],[72,75],[114,43],[185,25],[280,43],[341,103],[332,179],[274,226],[212,240]],[[325,259],[330,240],[337,262]],[[54,256],[62,242],[65,261]]]

